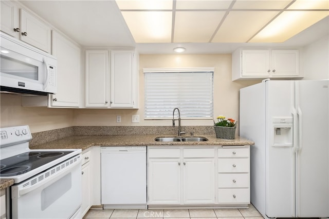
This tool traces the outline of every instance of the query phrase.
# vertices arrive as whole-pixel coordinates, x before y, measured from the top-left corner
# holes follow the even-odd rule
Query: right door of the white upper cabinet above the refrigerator
[[[271,57],[273,77],[299,75],[298,50],[272,50]]]

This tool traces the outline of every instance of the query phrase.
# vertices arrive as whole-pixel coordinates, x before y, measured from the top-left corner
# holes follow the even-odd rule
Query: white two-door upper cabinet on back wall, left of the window
[[[135,51],[111,51],[111,68],[108,53],[108,50],[86,51],[86,107],[137,108]]]

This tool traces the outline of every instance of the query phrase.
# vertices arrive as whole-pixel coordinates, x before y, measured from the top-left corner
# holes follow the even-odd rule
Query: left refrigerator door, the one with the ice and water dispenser
[[[293,144],[273,146],[273,118],[291,117],[295,106],[293,81],[266,82],[266,215],[295,216],[295,154]],[[290,127],[291,128],[291,127]],[[293,130],[294,132],[294,130]]]

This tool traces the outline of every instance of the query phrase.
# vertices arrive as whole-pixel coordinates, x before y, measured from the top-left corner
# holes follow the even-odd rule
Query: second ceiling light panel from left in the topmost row
[[[177,0],[176,9],[188,9],[188,10],[198,10],[198,9],[228,9],[232,1],[187,1],[187,0]]]

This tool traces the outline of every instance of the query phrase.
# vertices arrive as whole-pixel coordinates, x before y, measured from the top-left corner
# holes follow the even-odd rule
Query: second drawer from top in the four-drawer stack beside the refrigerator
[[[249,172],[248,158],[220,158],[218,159],[218,172]]]

